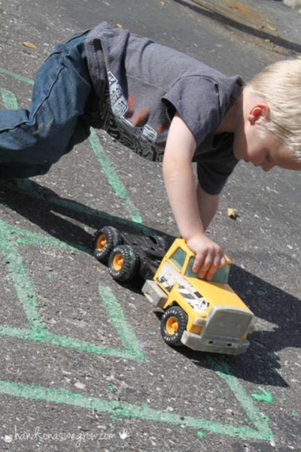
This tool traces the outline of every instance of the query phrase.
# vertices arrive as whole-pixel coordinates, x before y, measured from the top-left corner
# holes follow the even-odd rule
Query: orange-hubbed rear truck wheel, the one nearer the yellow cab
[[[125,282],[137,273],[139,258],[129,245],[116,246],[108,257],[108,271],[114,280]]]

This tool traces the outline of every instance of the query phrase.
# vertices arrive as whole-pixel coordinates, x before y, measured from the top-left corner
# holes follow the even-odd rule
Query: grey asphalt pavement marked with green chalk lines
[[[1,0],[1,108],[29,106],[49,51],[102,20],[244,79],[301,56],[276,0]],[[177,236],[159,164],[92,131],[47,175],[1,181],[0,450],[301,451],[300,192],[298,172],[240,163],[222,193],[208,234],[256,316],[226,357],[167,346],[139,284],[92,257],[108,223]]]

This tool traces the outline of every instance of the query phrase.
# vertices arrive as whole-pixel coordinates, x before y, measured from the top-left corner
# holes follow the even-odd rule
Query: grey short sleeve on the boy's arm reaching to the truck
[[[170,118],[177,111],[195,137],[197,145],[220,124],[218,85],[205,76],[179,79],[162,98]]]

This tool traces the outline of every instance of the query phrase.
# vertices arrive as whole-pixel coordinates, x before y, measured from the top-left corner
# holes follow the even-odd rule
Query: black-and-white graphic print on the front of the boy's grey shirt
[[[129,105],[122,87],[112,72],[108,72],[108,92],[105,94],[101,120],[104,129],[123,145],[152,161],[162,161],[163,150],[156,146],[157,132],[145,124],[136,127],[127,119]],[[138,116],[139,113],[136,114]],[[138,122],[139,123],[139,122]]]

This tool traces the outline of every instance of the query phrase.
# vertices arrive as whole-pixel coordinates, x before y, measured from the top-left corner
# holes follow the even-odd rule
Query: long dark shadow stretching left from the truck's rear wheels
[[[172,240],[157,229],[64,199],[31,179],[0,181],[0,202],[47,234],[91,255],[94,233],[104,225],[132,234],[157,234]]]

